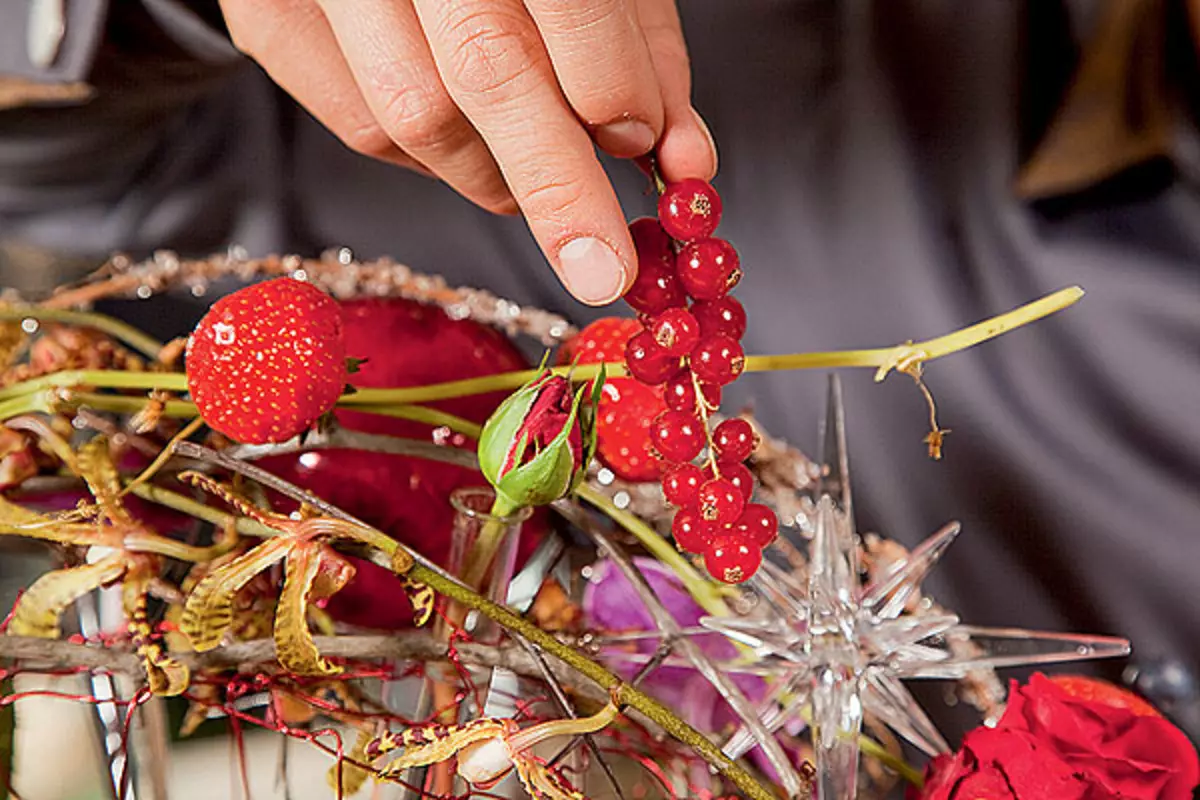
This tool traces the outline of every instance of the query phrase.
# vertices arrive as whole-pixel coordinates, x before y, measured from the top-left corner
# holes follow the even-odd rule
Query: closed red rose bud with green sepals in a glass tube
[[[550,371],[505,399],[484,425],[479,465],[497,499],[514,509],[553,503],[582,480],[595,451],[595,407],[604,375],[574,396]]]

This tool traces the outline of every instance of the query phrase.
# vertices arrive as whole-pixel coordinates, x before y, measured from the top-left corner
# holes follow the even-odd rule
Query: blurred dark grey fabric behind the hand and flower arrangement
[[[118,5],[137,24],[163,19]],[[683,0],[682,11],[696,106],[721,150],[721,233],[745,267],[749,351],[924,338],[1087,289],[1069,312],[930,368],[954,431],[944,462],[925,457],[907,379],[845,375],[860,523],[911,545],[962,521],[930,582],[940,599],[978,624],[1130,637],[1144,686],[1159,702],[1178,694],[1198,736],[1194,131],[1181,127],[1174,164],[1080,196],[1031,206],[1009,188],[1094,5]],[[232,53],[169,37],[148,52],[122,43],[125,24],[109,23],[91,104],[0,113],[0,239],[84,258],[346,245],[581,323],[607,313],[566,296],[518,221],[350,154]],[[1183,40],[1172,52],[1194,119],[1192,50]],[[637,170],[611,172],[629,216],[652,212]],[[191,313],[126,311],[176,330]],[[822,390],[820,374],[752,375],[727,397],[811,451]]]

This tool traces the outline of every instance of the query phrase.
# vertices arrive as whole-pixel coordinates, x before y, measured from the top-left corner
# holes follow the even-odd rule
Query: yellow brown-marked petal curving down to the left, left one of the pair
[[[204,576],[187,596],[179,630],[197,651],[221,644],[233,625],[233,599],[256,575],[283,559],[294,545],[280,536],[239,555]]]

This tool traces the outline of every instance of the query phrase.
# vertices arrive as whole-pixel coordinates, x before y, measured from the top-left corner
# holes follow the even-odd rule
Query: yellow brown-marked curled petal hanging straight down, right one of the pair
[[[336,675],[342,672],[341,667],[320,656],[308,630],[308,600],[318,577],[330,583],[338,581],[330,581],[328,575],[322,576],[324,549],[314,542],[293,545],[275,610],[276,656],[284,669],[298,675]],[[348,576],[341,581],[341,585],[344,585],[346,579]],[[341,585],[336,588],[341,589]],[[330,585],[324,587],[326,590],[329,588]]]

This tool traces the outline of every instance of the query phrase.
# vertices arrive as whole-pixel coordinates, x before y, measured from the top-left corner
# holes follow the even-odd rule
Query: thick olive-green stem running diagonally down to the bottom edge
[[[396,549],[392,543],[392,552]],[[688,745],[700,754],[712,766],[716,768],[748,798],[754,800],[778,800],[766,787],[758,783],[749,771],[740,764],[730,759],[721,748],[713,744],[704,734],[700,733],[690,724],[671,712],[665,705],[652,698],[649,694],[630,686],[617,675],[608,672],[587,656],[572,648],[563,644],[553,636],[546,633],[533,622],[512,613],[503,606],[481,597],[469,589],[448,581],[440,575],[421,566],[414,565],[408,572],[408,577],[428,585],[438,594],[445,595],[450,600],[473,608],[506,630],[514,631],[530,643],[538,645],[559,661],[569,664],[580,674],[595,681],[601,688],[612,692],[613,698],[623,706],[636,709],[655,724],[661,727],[678,741]]]

